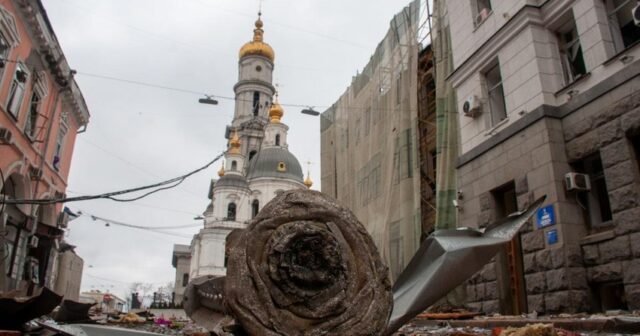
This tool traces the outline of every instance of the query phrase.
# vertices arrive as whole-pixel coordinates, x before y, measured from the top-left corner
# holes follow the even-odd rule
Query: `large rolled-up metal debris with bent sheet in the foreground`
[[[287,191],[229,235],[227,277],[191,281],[185,310],[219,335],[390,335],[480,270],[543,201],[486,231],[436,231],[392,291],[349,209]]]

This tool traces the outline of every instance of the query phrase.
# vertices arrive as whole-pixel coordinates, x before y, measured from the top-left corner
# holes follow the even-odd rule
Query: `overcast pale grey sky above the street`
[[[151,184],[194,170],[225,148],[233,101],[202,105],[204,94],[233,97],[238,50],[253,36],[258,0],[44,0],[91,112],[78,135],[69,196]],[[265,41],[290,126],[289,149],[311,161],[319,188],[320,132],[308,105],[323,111],[369,60],[392,16],[408,0],[264,0]],[[136,85],[127,81],[149,83]],[[173,88],[161,89],[159,87]],[[198,94],[200,93],[200,94]],[[303,163],[306,171],[306,164]],[[85,214],[142,226],[198,224],[218,163],[181,186],[140,201],[70,203]],[[148,232],[70,223],[67,240],[84,259],[82,289],[128,293],[132,282],[173,281],[173,244],[198,227]]]

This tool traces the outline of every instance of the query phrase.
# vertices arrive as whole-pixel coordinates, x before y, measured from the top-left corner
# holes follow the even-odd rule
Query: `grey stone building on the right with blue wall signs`
[[[547,196],[468,282],[470,305],[639,309],[636,1],[438,3],[449,13],[447,81],[460,111],[459,225],[484,226]]]

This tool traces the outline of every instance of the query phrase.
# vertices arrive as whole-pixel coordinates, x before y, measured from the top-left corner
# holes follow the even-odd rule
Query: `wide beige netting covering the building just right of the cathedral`
[[[417,142],[420,1],[391,20],[362,73],[321,116],[322,191],[366,226],[395,279],[421,234]]]

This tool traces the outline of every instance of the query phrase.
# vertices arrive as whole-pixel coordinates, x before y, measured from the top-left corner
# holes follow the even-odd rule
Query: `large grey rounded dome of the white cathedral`
[[[284,170],[279,169],[284,163]],[[298,159],[282,147],[264,148],[250,161],[248,179],[275,177],[302,183],[302,168]]]

